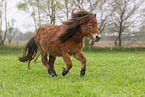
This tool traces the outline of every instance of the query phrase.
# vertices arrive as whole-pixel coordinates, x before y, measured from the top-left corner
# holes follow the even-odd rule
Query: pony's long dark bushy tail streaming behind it
[[[30,61],[34,59],[34,57],[37,54],[37,45],[35,43],[34,37],[32,37],[28,43],[26,44],[26,47],[24,49],[24,55],[22,57],[19,57],[19,61],[21,62],[25,62],[25,61],[29,61],[28,62],[28,68],[30,68]]]

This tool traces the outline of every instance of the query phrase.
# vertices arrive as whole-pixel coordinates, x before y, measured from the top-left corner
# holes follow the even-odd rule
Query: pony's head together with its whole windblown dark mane
[[[72,18],[63,22],[64,33],[59,36],[59,40],[65,42],[79,31],[83,36],[87,36],[96,42],[99,41],[101,35],[98,30],[96,14],[86,10],[80,10],[74,13],[75,9],[72,10]]]

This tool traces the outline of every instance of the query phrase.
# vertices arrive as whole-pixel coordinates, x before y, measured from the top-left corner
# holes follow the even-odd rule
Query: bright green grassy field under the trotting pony
[[[58,77],[51,77],[41,58],[38,63],[21,63],[21,51],[0,52],[1,97],[143,97],[145,96],[145,54],[134,52],[84,52],[87,71],[80,77],[80,63],[62,76],[61,57],[55,62]]]

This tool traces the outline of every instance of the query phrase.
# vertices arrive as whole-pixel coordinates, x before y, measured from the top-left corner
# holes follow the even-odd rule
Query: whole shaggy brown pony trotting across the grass
[[[87,36],[97,42],[101,35],[95,14],[85,10],[74,13],[74,10],[72,10],[71,19],[63,22],[61,26],[43,25],[39,27],[36,35],[27,43],[25,55],[19,57],[19,60],[21,62],[29,61],[29,66],[38,48],[48,73],[51,76],[57,76],[54,70],[54,62],[57,56],[62,56],[66,63],[66,68],[62,72],[62,75],[65,76],[72,67],[70,56],[73,55],[81,62],[80,76],[84,76],[86,58],[82,53],[83,39]],[[49,54],[49,60],[47,54]]]

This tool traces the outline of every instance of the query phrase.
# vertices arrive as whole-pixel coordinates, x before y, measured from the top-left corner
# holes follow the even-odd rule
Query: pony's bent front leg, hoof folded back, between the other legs
[[[65,76],[69,72],[69,70],[72,68],[72,62],[70,59],[70,55],[68,53],[63,54],[62,57],[66,63],[66,68],[64,68],[62,71],[62,75]]]

